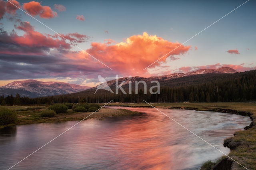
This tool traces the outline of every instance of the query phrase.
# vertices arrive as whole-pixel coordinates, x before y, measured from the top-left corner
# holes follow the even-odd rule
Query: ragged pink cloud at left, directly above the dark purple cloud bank
[[[71,45],[64,38],[73,43],[82,43],[88,40],[88,36],[83,34],[69,33],[61,34],[64,38],[58,34],[42,34],[35,31],[34,27],[29,22],[20,22],[19,25],[14,25],[17,30],[22,30],[24,34],[22,36],[17,35],[13,30],[10,34],[6,31],[0,32],[0,42],[5,45],[0,47],[0,53],[2,54],[36,54],[42,55],[50,49],[57,50],[69,50]]]

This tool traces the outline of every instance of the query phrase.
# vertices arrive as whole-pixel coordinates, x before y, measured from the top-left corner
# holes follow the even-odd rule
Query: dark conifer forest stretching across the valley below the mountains
[[[139,103],[148,102],[238,102],[256,101],[256,71],[248,71],[225,79],[216,79],[194,85],[180,87],[161,87],[160,94],[144,94],[140,89],[138,94],[116,95],[105,90],[84,91],[70,95],[58,95],[29,99],[28,97],[0,97],[0,103],[13,104],[51,104],[51,103],[79,103],[83,99],[87,103],[114,102]]]

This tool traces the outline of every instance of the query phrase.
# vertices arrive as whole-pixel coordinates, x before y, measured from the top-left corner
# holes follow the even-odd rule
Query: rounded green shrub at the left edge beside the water
[[[0,126],[15,124],[18,119],[17,113],[6,107],[0,107]]]

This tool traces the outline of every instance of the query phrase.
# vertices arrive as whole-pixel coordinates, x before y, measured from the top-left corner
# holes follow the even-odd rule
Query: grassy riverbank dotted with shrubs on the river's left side
[[[90,115],[92,112],[74,112],[68,109],[67,113],[58,113],[56,117],[41,117],[43,110],[48,105],[22,105],[22,106],[6,106],[8,109],[16,111],[18,120],[16,125],[28,125],[34,123],[60,123],[65,121],[80,121]],[[128,111],[126,109],[108,109],[102,108],[98,112],[90,115],[87,119],[104,120],[106,117],[114,116],[130,116],[140,114],[139,112]]]

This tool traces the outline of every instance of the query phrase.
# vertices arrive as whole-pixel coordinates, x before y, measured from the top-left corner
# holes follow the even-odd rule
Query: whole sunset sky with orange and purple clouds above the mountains
[[[244,2],[0,0],[0,86],[256,69],[256,1]]]

